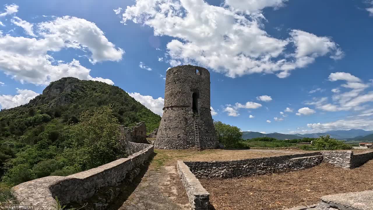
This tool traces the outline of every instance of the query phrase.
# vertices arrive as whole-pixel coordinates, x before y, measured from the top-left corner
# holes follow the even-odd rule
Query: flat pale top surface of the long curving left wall
[[[136,144],[144,145],[147,147],[139,152],[136,152],[135,154],[130,155],[128,158],[120,158],[94,169],[75,173],[69,176],[47,176],[40,179],[34,179],[16,185],[12,189],[21,206],[30,206],[30,204],[32,204],[32,206],[38,207],[40,209],[53,209],[56,201],[54,200],[54,197],[52,197],[51,187],[68,180],[84,180],[99,173],[105,173],[105,171],[118,167],[121,164],[126,163],[127,161],[132,161],[133,159],[145,154],[147,151],[154,148],[153,145],[142,143]]]

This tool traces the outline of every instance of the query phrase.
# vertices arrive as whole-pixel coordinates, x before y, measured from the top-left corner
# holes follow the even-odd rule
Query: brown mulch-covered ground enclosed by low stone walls
[[[356,169],[327,163],[297,172],[200,179],[216,210],[280,210],[319,203],[329,194],[373,190],[373,160]]]

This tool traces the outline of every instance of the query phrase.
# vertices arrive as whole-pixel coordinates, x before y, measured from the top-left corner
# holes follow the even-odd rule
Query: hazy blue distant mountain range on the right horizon
[[[361,130],[361,129],[350,129],[350,130],[330,130],[325,133],[305,133],[305,134],[283,134],[283,133],[268,133],[263,134],[259,132],[245,131],[242,132],[243,139],[252,139],[258,137],[271,137],[279,140],[285,139],[301,139],[301,138],[319,138],[320,136],[330,135],[331,138],[341,140],[373,140],[373,130]]]

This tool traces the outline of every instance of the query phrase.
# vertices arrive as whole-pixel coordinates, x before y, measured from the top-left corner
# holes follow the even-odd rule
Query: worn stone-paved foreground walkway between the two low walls
[[[189,210],[186,196],[177,189],[175,166],[149,169],[119,210]]]

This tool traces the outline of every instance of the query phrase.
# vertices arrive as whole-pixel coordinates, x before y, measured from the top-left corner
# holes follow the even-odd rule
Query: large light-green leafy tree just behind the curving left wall
[[[71,148],[63,151],[62,161],[78,171],[92,169],[124,157],[119,147],[119,123],[111,106],[80,114],[80,122],[70,129]]]

